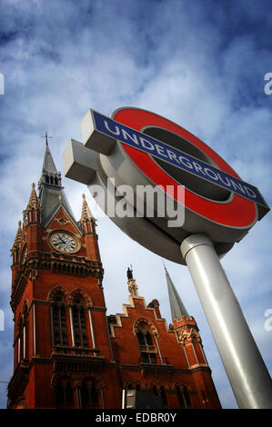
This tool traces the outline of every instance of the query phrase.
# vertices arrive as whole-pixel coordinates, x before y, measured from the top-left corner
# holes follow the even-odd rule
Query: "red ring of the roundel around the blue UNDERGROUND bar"
[[[165,117],[155,113],[148,112],[133,107],[125,107],[117,110],[113,114],[113,119],[121,124],[141,131],[146,126],[157,126],[168,131],[179,134],[191,144],[196,145],[197,148],[207,154],[217,166],[227,174],[235,176],[239,179],[236,172],[207,144],[196,138],[195,135],[190,134],[186,129],[167,120]],[[122,143],[120,143],[122,144]],[[176,181],[166,174],[152,159],[149,154],[122,144],[126,154],[135,162],[139,169],[146,174],[146,176],[156,185],[176,185]],[[213,200],[207,200],[204,197],[192,193],[187,188],[185,189],[185,204],[186,208],[204,216],[214,223],[220,223],[229,227],[248,227],[254,223],[257,216],[257,208],[253,202],[234,194],[232,200],[227,203],[220,203]]]

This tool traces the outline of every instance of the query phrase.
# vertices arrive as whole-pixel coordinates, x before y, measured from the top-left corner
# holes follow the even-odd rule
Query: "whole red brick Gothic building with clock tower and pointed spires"
[[[139,296],[106,315],[96,220],[83,196],[79,222],[47,140],[12,248],[14,374],[8,408],[122,408],[124,390],[160,396],[165,408],[220,408],[195,319],[166,272],[173,324]],[[105,284],[106,285],[106,284]]]

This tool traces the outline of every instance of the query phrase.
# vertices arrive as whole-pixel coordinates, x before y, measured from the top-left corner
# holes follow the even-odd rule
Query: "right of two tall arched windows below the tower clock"
[[[88,347],[84,299],[79,293],[73,298],[72,318],[76,347]]]

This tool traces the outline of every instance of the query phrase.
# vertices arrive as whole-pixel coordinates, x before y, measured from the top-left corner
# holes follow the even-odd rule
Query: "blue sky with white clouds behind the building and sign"
[[[62,154],[88,108],[122,106],[161,114],[196,134],[271,205],[272,72],[269,0],[2,0],[0,3],[0,407],[13,372],[10,249],[37,184],[45,131],[77,219],[82,194],[98,215],[107,314],[128,303],[132,264],[139,294],[171,323],[163,259],[99,217],[83,184],[64,177]],[[2,79],[3,82],[3,79]],[[0,82],[1,83],[1,82]],[[260,353],[272,372],[271,213],[221,263]],[[223,408],[237,408],[227,374],[186,266],[166,267],[198,324]],[[271,310],[271,312],[269,312]],[[271,315],[271,314],[270,314]]]

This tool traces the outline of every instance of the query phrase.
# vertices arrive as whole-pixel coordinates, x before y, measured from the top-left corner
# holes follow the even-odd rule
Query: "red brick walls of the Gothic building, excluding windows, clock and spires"
[[[176,386],[184,395],[187,393],[192,408],[220,408],[195,319],[184,316],[168,327],[156,300],[146,305],[143,297],[131,295],[130,303],[123,306],[124,313],[106,317],[94,223],[84,223],[85,233],[82,233],[64,208],[56,212],[45,229],[38,217],[35,211],[29,212],[31,221],[23,227],[23,240],[17,253],[13,251],[11,305],[15,315],[15,365],[8,386],[8,407],[55,408],[54,387],[59,378],[69,382],[73,390],[74,404],[68,407],[78,407],[77,388],[83,381],[90,381],[96,383],[99,408],[120,408],[122,390],[131,387],[148,392],[154,392],[155,388],[160,392],[163,387],[166,407],[178,408],[181,403]],[[55,230],[76,234],[80,250],[75,254],[57,253],[48,243],[50,233]],[[25,244],[24,264],[20,257]],[[86,266],[91,268],[87,270]],[[55,353],[60,348],[52,343],[50,295],[59,287],[66,298],[67,345],[62,350],[66,353]],[[84,349],[73,347],[70,307],[76,290],[85,298],[87,343],[93,350],[87,356],[81,353]],[[141,322],[152,335],[153,347],[139,347],[136,332]],[[149,363],[140,361],[144,349],[154,354],[149,353],[149,357],[154,357]]]

